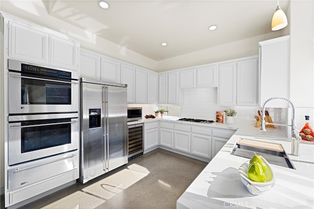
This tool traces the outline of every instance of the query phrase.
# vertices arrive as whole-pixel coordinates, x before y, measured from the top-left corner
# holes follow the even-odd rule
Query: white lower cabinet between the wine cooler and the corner
[[[158,146],[158,121],[144,124],[144,151]]]

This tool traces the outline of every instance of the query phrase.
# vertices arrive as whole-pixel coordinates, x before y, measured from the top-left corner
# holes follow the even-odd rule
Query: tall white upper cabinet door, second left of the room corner
[[[135,71],[135,103],[147,103],[147,71],[136,68]]]

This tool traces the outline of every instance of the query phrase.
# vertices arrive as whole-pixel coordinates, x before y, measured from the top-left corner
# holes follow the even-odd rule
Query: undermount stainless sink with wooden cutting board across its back
[[[230,154],[251,159],[254,153],[270,164],[295,169],[281,144],[239,138]]]

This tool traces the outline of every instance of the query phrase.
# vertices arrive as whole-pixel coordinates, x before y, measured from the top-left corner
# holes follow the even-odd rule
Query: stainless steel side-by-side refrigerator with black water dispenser
[[[80,182],[128,163],[127,84],[80,79]]]

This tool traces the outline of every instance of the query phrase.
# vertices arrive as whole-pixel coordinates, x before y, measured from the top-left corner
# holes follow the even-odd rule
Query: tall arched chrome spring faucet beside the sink
[[[287,101],[291,107],[292,107],[292,119],[291,119],[291,125],[288,124],[275,124],[275,123],[267,123],[265,122],[265,104],[268,103],[271,100],[285,100]],[[261,121],[261,126],[260,130],[261,131],[266,131],[265,125],[266,124],[273,124],[277,126],[290,126],[291,127],[291,155],[294,156],[300,156],[299,154],[299,142],[301,141],[301,137],[299,136],[299,131],[296,130],[296,123],[295,123],[295,107],[294,104],[287,98],[284,97],[271,97],[267,99],[263,104],[262,104],[262,121]]]

